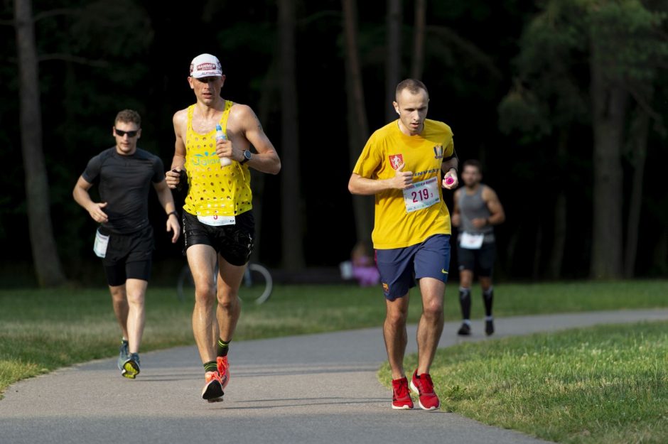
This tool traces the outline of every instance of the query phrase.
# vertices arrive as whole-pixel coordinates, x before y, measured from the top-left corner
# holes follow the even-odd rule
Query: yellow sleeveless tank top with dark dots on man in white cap
[[[220,118],[227,133],[227,117],[233,102],[225,101]],[[216,131],[198,134],[193,130],[195,105],[188,107],[188,129],[185,134],[185,170],[188,172],[188,195],[183,210],[194,216],[237,216],[252,209],[248,166],[236,161],[220,165],[216,155]]]

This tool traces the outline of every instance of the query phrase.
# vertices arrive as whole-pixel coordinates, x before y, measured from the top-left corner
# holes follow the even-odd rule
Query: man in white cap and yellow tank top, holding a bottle
[[[220,97],[224,83],[214,55],[200,54],[190,63],[188,84],[197,103],[174,114],[176,146],[166,173],[170,188],[177,188],[183,175],[190,185],[183,233],[195,281],[193,333],[205,370],[202,397],[209,402],[222,401],[230,381],[227,350],[241,313],[239,285],[253,249],[248,168],[270,174],[281,170],[276,149],[253,110]],[[216,140],[216,124],[227,139]],[[222,166],[221,159],[229,165]],[[214,286],[216,264],[219,275]]]

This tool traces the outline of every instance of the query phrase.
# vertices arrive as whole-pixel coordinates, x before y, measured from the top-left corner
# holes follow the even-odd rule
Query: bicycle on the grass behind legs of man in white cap
[[[218,266],[216,266],[214,279],[218,278]],[[245,302],[253,302],[257,305],[265,303],[271,291],[274,289],[274,280],[265,266],[249,263],[244,271],[244,278],[239,286],[239,298]],[[176,281],[176,292],[179,300],[185,300],[185,294],[195,293],[195,282],[190,273],[190,266],[186,264]]]

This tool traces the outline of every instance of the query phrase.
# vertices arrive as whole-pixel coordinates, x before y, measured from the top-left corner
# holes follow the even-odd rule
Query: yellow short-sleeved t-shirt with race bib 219
[[[404,248],[434,234],[451,234],[440,171],[443,158],[453,155],[452,136],[450,126],[430,119],[425,119],[424,130],[416,136],[402,133],[398,121],[371,135],[352,172],[368,179],[389,179],[403,162],[403,171],[413,172],[415,187],[375,195],[374,248]]]

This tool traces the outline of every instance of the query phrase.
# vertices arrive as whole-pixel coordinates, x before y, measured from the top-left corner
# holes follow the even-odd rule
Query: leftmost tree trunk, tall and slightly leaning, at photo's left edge
[[[31,0],[14,1],[16,55],[18,56],[21,153],[26,171],[28,229],[37,281],[41,287],[65,283],[55,246],[49,187],[42,151],[42,117],[37,48]]]

